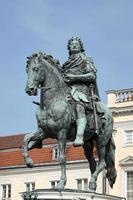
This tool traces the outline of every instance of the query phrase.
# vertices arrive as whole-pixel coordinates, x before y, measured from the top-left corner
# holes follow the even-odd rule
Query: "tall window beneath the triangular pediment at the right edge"
[[[133,171],[127,172],[127,200],[133,200]]]

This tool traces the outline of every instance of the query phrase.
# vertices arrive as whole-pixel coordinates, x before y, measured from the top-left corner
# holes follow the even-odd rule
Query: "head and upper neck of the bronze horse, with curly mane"
[[[53,84],[53,87],[57,82],[58,85],[64,83],[59,61],[42,52],[34,53],[28,57],[26,71],[27,84],[25,91],[28,95],[37,95],[37,89],[44,86],[46,79],[48,80],[46,81],[47,84]],[[50,78],[48,78],[48,74]]]

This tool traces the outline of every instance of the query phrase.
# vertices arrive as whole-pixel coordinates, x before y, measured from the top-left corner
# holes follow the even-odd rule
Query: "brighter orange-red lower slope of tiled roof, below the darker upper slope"
[[[53,163],[52,160],[52,149],[50,147],[42,149],[33,149],[30,151],[30,157],[33,159],[35,164],[45,164]],[[84,160],[85,156],[82,150],[82,147],[68,147],[66,150],[66,160]],[[57,161],[56,161],[57,162]],[[9,166],[21,166],[25,165],[22,152],[10,151],[10,152],[0,152],[0,167],[9,167]]]

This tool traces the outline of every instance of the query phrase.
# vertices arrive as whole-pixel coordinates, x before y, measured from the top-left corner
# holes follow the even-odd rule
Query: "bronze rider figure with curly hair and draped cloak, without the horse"
[[[83,136],[87,125],[86,104],[90,103],[90,85],[94,86],[94,94],[99,100],[96,83],[96,68],[93,60],[85,55],[83,43],[80,38],[72,37],[68,41],[69,58],[63,64],[62,71],[65,81],[71,86],[71,95],[76,101],[77,134],[74,146],[84,144]]]

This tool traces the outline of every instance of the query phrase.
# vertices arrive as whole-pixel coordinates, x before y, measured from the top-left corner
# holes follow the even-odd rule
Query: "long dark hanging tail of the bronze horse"
[[[110,187],[113,188],[113,185],[117,177],[117,172],[115,169],[115,143],[114,143],[113,136],[110,138],[107,144],[105,162],[106,162],[106,169],[107,169],[106,177],[109,181]]]

